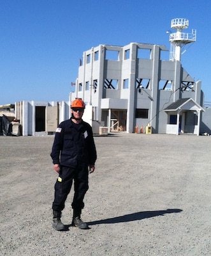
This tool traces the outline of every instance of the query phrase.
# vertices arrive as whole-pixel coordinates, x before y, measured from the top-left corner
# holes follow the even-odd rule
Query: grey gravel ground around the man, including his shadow
[[[52,228],[57,179],[54,136],[0,137],[1,255],[210,255],[211,137],[167,134],[95,136],[82,220]]]

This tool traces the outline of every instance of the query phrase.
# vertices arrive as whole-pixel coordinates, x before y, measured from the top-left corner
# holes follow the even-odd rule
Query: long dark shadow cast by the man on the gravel
[[[177,213],[177,212],[181,212],[181,211],[182,211],[181,209],[167,209],[167,210],[163,210],[163,211],[135,212],[135,213],[126,214],[123,216],[108,218],[105,220],[91,221],[91,222],[88,222],[87,224],[88,225],[113,224],[113,223],[120,223],[120,222],[143,220],[143,219],[152,218],[155,216],[164,216],[164,214]]]

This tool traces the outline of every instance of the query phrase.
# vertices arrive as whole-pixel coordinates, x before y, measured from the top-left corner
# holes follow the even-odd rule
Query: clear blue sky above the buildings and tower
[[[184,32],[197,30],[182,66],[211,102],[210,10],[210,0],[0,0],[0,105],[68,101],[84,51],[131,42],[170,49],[175,18],[189,19]]]

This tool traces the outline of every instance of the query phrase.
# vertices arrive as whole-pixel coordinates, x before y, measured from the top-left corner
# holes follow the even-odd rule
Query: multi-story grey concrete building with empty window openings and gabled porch
[[[164,45],[131,43],[99,45],[85,51],[76,91],[88,120],[105,122],[108,130],[200,134],[203,106],[201,81],[194,81],[178,60],[162,60]]]

